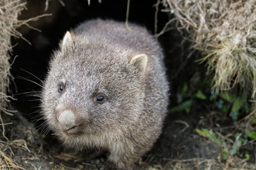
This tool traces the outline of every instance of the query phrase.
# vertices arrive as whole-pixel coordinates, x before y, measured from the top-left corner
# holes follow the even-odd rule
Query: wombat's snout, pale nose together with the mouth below
[[[57,111],[56,117],[64,132],[68,134],[80,132],[79,126],[82,125],[82,119],[71,109]]]

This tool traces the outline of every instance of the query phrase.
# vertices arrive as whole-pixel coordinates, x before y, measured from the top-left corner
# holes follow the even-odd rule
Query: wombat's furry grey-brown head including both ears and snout
[[[147,57],[67,32],[43,88],[49,128],[62,137],[125,130],[143,113]]]

